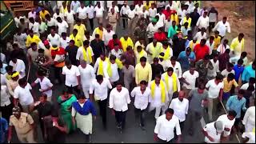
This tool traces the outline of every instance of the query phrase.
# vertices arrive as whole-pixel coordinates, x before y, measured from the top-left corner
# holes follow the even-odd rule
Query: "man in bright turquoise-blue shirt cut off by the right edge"
[[[250,77],[255,78],[255,67],[256,67],[256,61],[245,68],[242,72],[242,83],[246,83],[249,81]]]

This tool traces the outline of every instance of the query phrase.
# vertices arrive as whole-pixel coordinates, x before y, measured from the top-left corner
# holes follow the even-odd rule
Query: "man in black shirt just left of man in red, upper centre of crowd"
[[[95,34],[95,39],[90,42],[90,46],[94,51],[94,59],[97,59],[102,53],[105,54],[104,42],[99,38],[99,34]]]

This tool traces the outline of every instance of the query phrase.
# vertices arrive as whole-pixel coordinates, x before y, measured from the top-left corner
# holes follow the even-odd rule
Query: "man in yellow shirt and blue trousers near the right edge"
[[[227,75],[227,78],[223,79],[223,103],[224,105],[226,104],[226,101],[228,98],[230,98],[231,92],[230,90],[232,89],[232,86],[236,87],[238,89],[238,83],[234,79],[234,74],[230,73]]]

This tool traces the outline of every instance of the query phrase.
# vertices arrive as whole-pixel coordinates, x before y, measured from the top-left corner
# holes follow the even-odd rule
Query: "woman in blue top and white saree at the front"
[[[93,117],[96,119],[96,109],[93,102],[80,94],[78,101],[72,103],[72,122],[77,125],[83,134],[86,134],[86,142],[90,141],[90,134],[93,130]]]

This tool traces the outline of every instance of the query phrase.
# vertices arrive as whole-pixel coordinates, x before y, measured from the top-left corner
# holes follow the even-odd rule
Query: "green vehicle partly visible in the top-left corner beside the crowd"
[[[3,1],[0,1],[1,4],[1,16],[0,16],[0,22],[1,22],[1,41],[6,40],[8,37],[12,37],[14,30],[16,29],[15,22],[14,22],[14,16],[11,13],[10,10],[6,7],[6,4]]]

